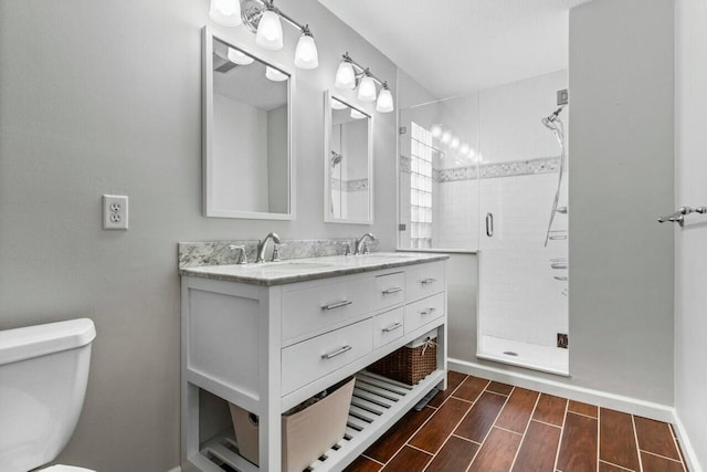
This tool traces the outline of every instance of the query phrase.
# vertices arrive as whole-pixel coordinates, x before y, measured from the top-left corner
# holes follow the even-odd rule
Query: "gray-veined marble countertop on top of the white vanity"
[[[447,254],[416,252],[373,252],[366,255],[329,255],[292,259],[246,265],[201,265],[182,268],[181,275],[242,282],[254,285],[281,285],[337,275],[358,274],[422,262],[443,261]]]

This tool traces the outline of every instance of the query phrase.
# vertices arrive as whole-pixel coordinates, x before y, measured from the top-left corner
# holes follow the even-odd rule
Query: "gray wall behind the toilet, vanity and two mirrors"
[[[91,378],[60,458],[102,472],[179,462],[177,242],[376,233],[395,243],[395,116],[376,116],[376,224],[323,222],[323,108],[349,51],[395,67],[316,0],[279,0],[317,39],[297,71],[297,219],[201,216],[201,32],[208,0],[0,2],[0,328],[88,316]],[[297,32],[264,56],[292,65]],[[244,29],[215,28],[254,46]],[[101,229],[101,195],[130,198],[130,230]]]

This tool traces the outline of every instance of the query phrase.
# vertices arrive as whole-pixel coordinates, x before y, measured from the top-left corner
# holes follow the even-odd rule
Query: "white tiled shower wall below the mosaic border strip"
[[[568,332],[568,284],[555,279],[568,271],[551,268],[567,261],[567,240],[544,247],[557,179],[553,172],[479,180],[483,207],[496,217],[494,237],[481,237],[484,335],[551,346]],[[560,195],[567,201],[564,185]],[[558,213],[553,228],[567,230],[567,216]]]

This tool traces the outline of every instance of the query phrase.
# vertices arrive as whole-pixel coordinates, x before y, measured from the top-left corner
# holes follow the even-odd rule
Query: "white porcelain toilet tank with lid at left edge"
[[[84,405],[95,337],[87,318],[0,331],[0,471],[27,472],[64,449]]]

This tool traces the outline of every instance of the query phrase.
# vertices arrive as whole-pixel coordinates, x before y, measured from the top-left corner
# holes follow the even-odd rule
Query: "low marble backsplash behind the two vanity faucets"
[[[283,240],[279,256],[283,260],[320,258],[325,255],[344,254],[346,243],[354,248],[355,238],[342,239],[314,239],[314,240]],[[207,242],[180,242],[179,243],[179,268],[193,268],[199,265],[228,265],[235,264],[240,251],[229,249],[230,245],[245,245],[245,253],[249,262],[255,262],[257,253],[257,240],[233,240],[233,241],[207,241]],[[380,250],[380,242],[368,243],[371,252]],[[266,259],[272,256],[272,243],[266,253]]]

